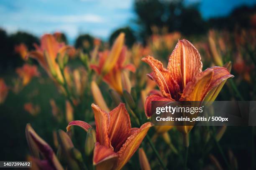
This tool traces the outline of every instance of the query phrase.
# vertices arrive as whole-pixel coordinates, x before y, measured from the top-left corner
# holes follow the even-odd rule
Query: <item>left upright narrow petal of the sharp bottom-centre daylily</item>
[[[110,139],[108,137],[108,128],[110,124],[109,114],[93,103],[92,110],[94,112],[97,142],[99,142],[100,145],[112,148]]]

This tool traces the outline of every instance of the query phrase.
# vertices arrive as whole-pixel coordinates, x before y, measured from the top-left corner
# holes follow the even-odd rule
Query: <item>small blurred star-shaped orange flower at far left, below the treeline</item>
[[[16,72],[22,79],[23,86],[27,85],[34,76],[38,77],[40,75],[36,65],[24,64],[22,67],[17,68]]]

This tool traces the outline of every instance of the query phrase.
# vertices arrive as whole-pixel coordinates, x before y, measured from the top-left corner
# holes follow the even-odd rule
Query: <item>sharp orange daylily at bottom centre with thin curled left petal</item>
[[[141,128],[131,128],[130,116],[125,109],[125,104],[109,113],[92,104],[95,115],[96,143],[93,155],[93,164],[96,169],[120,170],[136,152],[151,122],[141,125]],[[92,128],[83,121],[72,121],[67,126],[67,131],[72,125],[77,125],[87,131]]]

